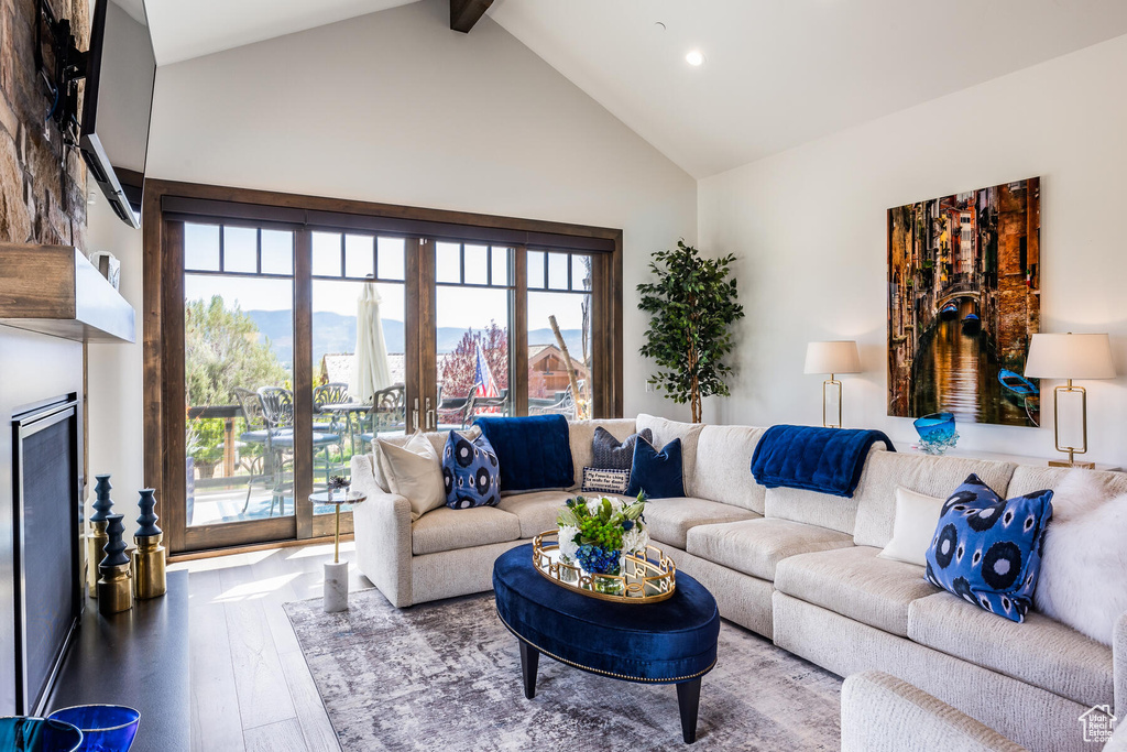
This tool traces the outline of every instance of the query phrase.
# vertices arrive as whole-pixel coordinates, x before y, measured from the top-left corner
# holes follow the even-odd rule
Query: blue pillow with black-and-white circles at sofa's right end
[[[943,504],[925,577],[986,611],[1024,621],[1051,519],[1051,490],[1004,499],[971,474]]]

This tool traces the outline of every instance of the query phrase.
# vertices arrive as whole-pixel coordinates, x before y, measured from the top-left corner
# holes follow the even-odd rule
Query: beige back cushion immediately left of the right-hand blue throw
[[[766,428],[704,426],[696,442],[696,468],[686,490],[699,498],[763,514],[766,488],[752,476],[752,454]]]

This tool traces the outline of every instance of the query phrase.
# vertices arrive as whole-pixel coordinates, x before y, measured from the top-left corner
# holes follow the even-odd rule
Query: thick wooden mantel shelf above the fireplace
[[[0,244],[0,324],[79,342],[135,342],[133,307],[82,251]]]

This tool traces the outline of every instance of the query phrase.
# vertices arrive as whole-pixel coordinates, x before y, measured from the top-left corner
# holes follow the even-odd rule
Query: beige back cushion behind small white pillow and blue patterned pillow
[[[893,539],[896,519],[896,487],[947,499],[971,472],[987,486],[1006,497],[1012,462],[973,460],[962,457],[931,457],[909,452],[876,452],[869,454],[861,481],[853,494],[857,502],[857,525],[853,541],[858,546],[884,548]]]

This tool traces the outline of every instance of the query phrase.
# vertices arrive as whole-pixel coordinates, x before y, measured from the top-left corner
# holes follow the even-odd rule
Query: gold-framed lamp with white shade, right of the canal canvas
[[[1073,379],[1113,379],[1116,366],[1111,362],[1111,344],[1106,334],[1035,334],[1026,359],[1026,378],[1066,379],[1066,386],[1053,390],[1053,439],[1058,452],[1067,452],[1067,460],[1050,460],[1055,467],[1093,468],[1093,462],[1076,462],[1076,454],[1088,452],[1088,392],[1074,387]],[[1080,395],[1082,439],[1080,446],[1061,445],[1062,393]]]

